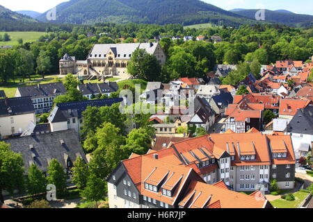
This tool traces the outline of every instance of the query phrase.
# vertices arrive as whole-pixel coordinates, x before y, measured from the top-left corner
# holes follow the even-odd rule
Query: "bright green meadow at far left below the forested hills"
[[[35,42],[40,36],[47,34],[44,32],[0,32],[0,35],[3,36],[4,33],[8,33],[11,40],[8,42],[0,42],[0,46],[15,46],[18,44],[17,40],[20,38],[23,39],[24,43]]]

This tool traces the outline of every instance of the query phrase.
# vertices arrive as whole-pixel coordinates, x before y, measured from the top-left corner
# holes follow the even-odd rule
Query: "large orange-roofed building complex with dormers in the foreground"
[[[263,196],[270,180],[278,180],[281,189],[294,188],[295,164],[289,135],[228,130],[224,134],[185,138],[146,155],[133,153],[120,162],[108,178],[109,205],[271,207]],[[236,191],[252,194],[241,196]],[[256,194],[260,198],[255,198]]]

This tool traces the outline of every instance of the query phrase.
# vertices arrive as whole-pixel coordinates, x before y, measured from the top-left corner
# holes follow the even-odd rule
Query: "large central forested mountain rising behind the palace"
[[[200,24],[236,26],[255,20],[198,0],[71,0],[56,6],[56,23],[97,22]],[[47,22],[45,14],[38,17]]]

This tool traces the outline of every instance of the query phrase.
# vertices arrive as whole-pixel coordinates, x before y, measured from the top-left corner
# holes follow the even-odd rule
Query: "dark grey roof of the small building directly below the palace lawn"
[[[108,94],[118,91],[118,83],[87,83],[79,85],[78,88],[83,95]]]

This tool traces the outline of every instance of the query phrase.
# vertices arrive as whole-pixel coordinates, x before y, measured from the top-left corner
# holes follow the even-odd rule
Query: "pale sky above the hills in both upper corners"
[[[50,8],[66,0],[0,0],[0,5],[10,10],[33,10],[36,12],[46,12]],[[202,0],[218,6],[225,10],[234,8],[248,9],[284,9],[299,14],[313,15],[312,0]]]

